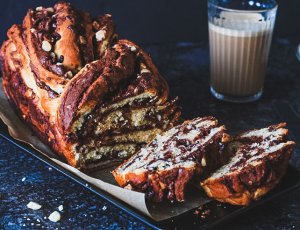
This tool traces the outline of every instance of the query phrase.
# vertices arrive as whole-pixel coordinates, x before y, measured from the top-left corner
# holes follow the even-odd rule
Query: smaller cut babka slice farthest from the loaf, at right
[[[283,177],[295,143],[287,141],[285,123],[245,132],[226,147],[233,156],[201,186],[211,198],[248,205],[274,188]]]

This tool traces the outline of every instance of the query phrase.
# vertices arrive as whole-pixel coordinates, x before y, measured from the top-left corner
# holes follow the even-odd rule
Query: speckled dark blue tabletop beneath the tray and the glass
[[[274,40],[263,97],[258,102],[239,105],[217,101],[210,95],[206,42],[145,48],[168,80],[171,96],[180,97],[184,118],[214,115],[231,132],[238,132],[282,121],[274,108],[276,101],[289,103],[300,114],[300,62],[295,57],[296,44],[290,39]],[[300,136],[292,133],[292,138],[299,140]],[[299,145],[291,163],[300,169]],[[0,228],[147,228],[1,138],[0,181]],[[299,229],[299,194],[300,188],[229,221],[221,229]],[[42,204],[42,209],[28,209],[26,204],[30,200]],[[64,205],[62,220],[52,223],[45,219],[60,204]]]

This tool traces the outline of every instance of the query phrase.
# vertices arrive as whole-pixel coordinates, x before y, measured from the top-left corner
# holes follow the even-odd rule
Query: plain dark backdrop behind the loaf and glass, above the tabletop
[[[7,29],[20,23],[28,8],[56,1],[1,0],[0,42]],[[137,43],[207,40],[206,0],[73,0],[92,15],[111,13],[120,37]],[[300,0],[278,0],[275,36],[300,35]]]

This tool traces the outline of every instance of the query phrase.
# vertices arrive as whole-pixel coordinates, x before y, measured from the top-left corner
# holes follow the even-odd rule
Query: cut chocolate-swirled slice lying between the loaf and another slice
[[[121,187],[144,192],[153,201],[184,201],[185,187],[194,175],[224,163],[219,151],[224,130],[213,117],[185,121],[157,135],[112,173]]]

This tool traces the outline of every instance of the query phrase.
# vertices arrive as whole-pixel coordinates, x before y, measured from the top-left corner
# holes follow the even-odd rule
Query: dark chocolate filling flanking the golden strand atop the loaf
[[[77,39],[77,46],[80,51],[81,63],[85,65],[94,60],[92,46],[88,48],[87,44],[87,34],[85,30],[85,25],[91,23],[89,15],[84,15],[81,11],[75,11],[73,8],[68,9],[67,18],[71,20],[72,25],[68,26],[68,29],[71,30]],[[59,11],[56,8],[52,11],[42,8],[40,10],[32,11],[32,33],[34,34],[33,43],[35,44],[35,49],[37,55],[40,59],[41,64],[47,70],[57,74],[59,76],[66,76],[68,70],[60,63],[63,62],[64,56],[60,55],[57,57],[53,51],[55,43],[61,38],[60,35],[56,32],[58,26],[57,17]],[[60,18],[60,22],[64,21],[63,18]],[[80,42],[80,40],[85,40],[85,42]],[[52,49],[50,51],[45,51],[42,49],[42,42],[47,41],[51,44]],[[72,75],[75,75],[79,70],[72,69]]]

